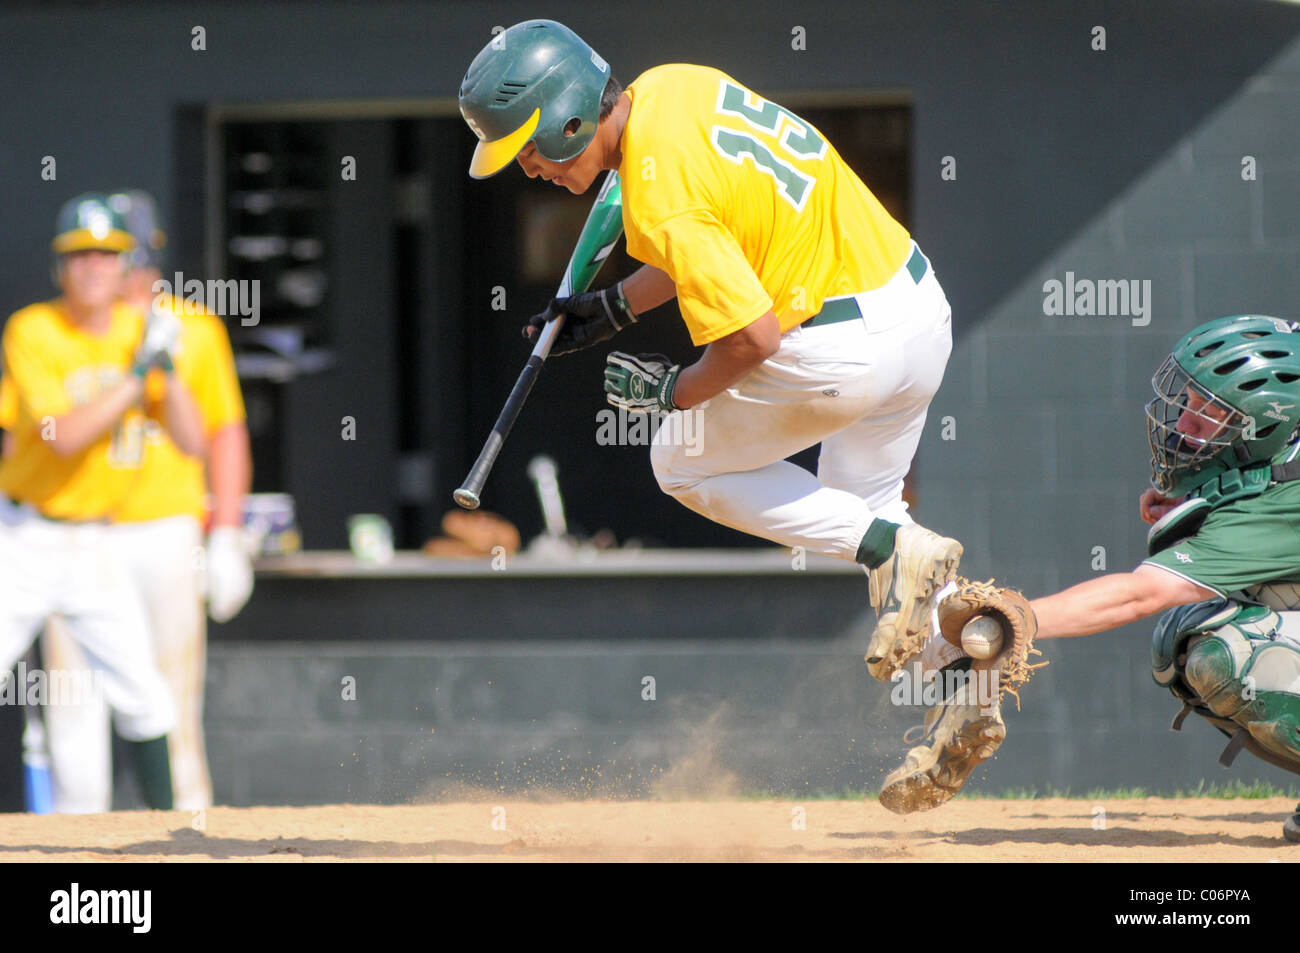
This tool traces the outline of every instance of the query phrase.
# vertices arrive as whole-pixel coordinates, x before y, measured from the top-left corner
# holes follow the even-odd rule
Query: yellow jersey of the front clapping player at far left
[[[114,304],[109,326],[91,334],[68,316],[62,299],[31,304],[9,317],[0,339],[0,426],[12,434],[0,460],[0,494],[46,516],[104,519],[130,491],[143,459],[146,415],[118,424],[74,456],[49,446],[55,419],[94,400],[130,374],[144,317]]]

